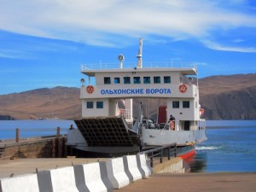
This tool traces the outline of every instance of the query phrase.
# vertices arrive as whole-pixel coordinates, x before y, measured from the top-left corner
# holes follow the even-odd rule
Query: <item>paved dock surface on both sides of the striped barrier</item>
[[[0,160],[0,178],[9,177],[55,169],[61,166],[71,166],[97,162],[107,159],[80,159],[80,158],[57,158],[57,159],[18,159]],[[155,174],[147,179],[141,179],[129,184],[125,188],[115,189],[115,192],[255,192],[256,172],[254,173],[187,173]]]

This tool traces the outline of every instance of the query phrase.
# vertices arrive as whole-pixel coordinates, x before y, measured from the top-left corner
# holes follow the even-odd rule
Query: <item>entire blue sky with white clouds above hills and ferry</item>
[[[256,72],[254,0],[0,0],[0,95],[79,87],[82,64],[195,63]]]

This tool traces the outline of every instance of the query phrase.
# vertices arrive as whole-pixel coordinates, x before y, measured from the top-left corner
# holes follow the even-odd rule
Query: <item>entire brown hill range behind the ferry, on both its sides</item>
[[[256,119],[255,73],[207,77],[199,80],[199,89],[201,108],[205,109],[203,118]],[[15,119],[77,119],[82,111],[79,91],[55,87],[2,95],[0,115]],[[150,110],[148,113],[154,115]]]

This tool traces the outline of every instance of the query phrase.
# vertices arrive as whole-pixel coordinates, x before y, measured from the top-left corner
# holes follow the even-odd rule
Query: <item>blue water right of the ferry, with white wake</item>
[[[207,138],[189,161],[192,172],[256,172],[256,120],[207,121]]]

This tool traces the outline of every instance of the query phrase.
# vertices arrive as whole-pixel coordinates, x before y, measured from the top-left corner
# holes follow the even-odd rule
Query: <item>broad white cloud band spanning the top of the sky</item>
[[[241,6],[242,0],[230,0]],[[113,35],[207,38],[213,29],[256,27],[255,15],[210,0],[2,0],[0,28],[10,32],[114,46]],[[118,40],[119,41],[119,40]]]

